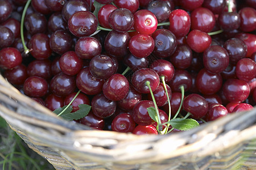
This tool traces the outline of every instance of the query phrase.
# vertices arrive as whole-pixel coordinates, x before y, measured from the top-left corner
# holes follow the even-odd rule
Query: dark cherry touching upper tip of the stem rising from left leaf
[[[76,76],[76,86],[86,95],[97,95],[102,91],[104,80],[94,77],[85,67]]]

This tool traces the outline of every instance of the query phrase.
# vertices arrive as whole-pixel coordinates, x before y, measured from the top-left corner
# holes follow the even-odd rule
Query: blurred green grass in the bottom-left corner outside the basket
[[[0,117],[0,169],[51,170],[54,168],[46,159],[32,151]]]

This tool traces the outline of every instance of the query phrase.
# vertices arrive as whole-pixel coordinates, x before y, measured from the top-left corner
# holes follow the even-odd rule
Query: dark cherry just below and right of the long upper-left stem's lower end
[[[27,74],[28,76],[40,76],[46,80],[51,78],[51,61],[48,59],[39,60],[36,59],[30,62],[27,66]]]

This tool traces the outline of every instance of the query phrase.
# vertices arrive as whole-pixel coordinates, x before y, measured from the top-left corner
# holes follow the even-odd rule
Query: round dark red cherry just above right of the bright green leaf
[[[190,94],[184,98],[183,109],[191,113],[192,118],[199,119],[207,114],[208,103],[203,96]]]

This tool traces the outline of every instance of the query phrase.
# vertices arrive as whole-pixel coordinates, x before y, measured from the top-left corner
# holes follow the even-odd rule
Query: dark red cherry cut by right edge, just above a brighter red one
[[[241,17],[240,29],[244,32],[255,31],[256,29],[256,10],[251,7],[243,7],[238,14]]]

